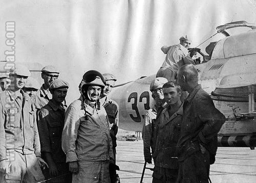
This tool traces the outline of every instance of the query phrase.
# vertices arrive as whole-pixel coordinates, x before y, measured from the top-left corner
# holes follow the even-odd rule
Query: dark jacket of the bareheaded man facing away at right
[[[180,160],[200,150],[203,145],[216,153],[216,136],[225,122],[225,116],[215,108],[210,96],[198,85],[183,104],[181,137],[178,141]],[[215,143],[215,145],[212,145]]]

